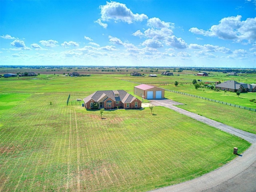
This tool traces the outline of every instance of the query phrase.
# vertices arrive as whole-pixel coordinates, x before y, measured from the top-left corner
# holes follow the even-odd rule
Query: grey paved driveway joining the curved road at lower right
[[[172,100],[151,100],[154,106],[165,106],[180,114],[184,114],[223,130],[248,142],[250,148],[230,163],[193,180],[153,190],[152,192],[256,192],[256,135],[220,122],[205,118],[198,114],[178,108],[174,105],[181,103]],[[239,149],[238,149],[239,152]]]

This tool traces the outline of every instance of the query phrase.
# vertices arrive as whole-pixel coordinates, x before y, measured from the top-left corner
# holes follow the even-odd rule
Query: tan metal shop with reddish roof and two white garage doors
[[[141,84],[134,87],[134,94],[145,99],[162,99],[164,98],[164,89]]]

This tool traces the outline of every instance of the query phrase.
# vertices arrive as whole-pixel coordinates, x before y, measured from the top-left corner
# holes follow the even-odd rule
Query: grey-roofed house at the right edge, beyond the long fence
[[[238,83],[234,80],[228,80],[215,86],[216,89],[232,92],[256,92],[256,84]]]

